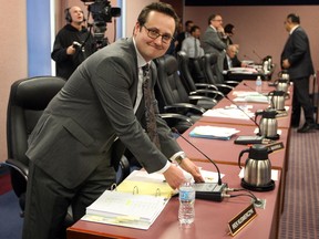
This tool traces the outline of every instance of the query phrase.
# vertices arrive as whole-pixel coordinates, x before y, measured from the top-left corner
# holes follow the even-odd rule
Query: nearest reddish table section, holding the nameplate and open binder
[[[203,169],[216,172],[210,163],[198,163]],[[240,169],[233,165],[219,165],[223,183],[227,183],[230,188],[240,188]],[[279,224],[279,184],[275,181],[275,189],[266,193],[254,193],[259,199],[266,200],[266,208],[256,208],[257,217],[253,219],[235,238],[237,239],[269,239],[276,238]],[[229,193],[231,195],[245,194],[245,191]],[[195,221],[187,228],[182,227],[177,219],[178,197],[173,197],[154,221],[148,230],[140,230],[126,227],[111,226],[106,224],[95,224],[84,220],[75,222],[68,229],[68,239],[97,239],[97,238],[140,238],[140,239],[212,239],[231,238],[228,233],[228,221],[251,204],[248,196],[225,198],[222,202],[196,199]]]

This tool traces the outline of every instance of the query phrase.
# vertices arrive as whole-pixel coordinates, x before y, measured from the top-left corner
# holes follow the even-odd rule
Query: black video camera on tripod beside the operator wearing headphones
[[[88,11],[92,13],[93,18],[93,35],[96,41],[96,44],[104,46],[105,39],[104,33],[106,31],[106,23],[112,22],[112,18],[121,17],[121,8],[112,8],[110,1],[107,0],[81,0],[88,4]]]

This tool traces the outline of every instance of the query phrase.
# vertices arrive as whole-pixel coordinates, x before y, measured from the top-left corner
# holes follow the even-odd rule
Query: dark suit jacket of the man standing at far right
[[[309,40],[301,27],[295,29],[289,35],[280,62],[282,63],[285,59],[288,59],[290,63],[288,69],[290,79],[308,77],[313,74]]]

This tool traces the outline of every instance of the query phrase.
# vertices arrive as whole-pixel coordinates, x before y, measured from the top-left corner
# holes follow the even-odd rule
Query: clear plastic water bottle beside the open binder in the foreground
[[[178,220],[183,226],[194,222],[195,219],[195,188],[191,180],[179,186],[179,209]]]

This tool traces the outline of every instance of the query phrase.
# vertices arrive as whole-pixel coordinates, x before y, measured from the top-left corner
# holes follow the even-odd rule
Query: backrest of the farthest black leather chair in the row
[[[202,56],[203,70],[208,84],[218,84],[222,83],[218,81],[217,71],[218,71],[218,55],[214,53],[206,53]]]

